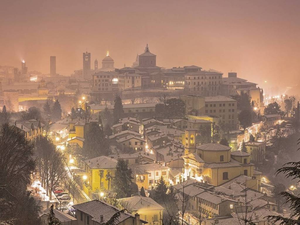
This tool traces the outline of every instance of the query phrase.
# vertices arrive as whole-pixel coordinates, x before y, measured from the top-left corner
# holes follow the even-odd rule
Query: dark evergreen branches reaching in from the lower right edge
[[[300,144],[300,139],[298,139],[298,144]],[[300,150],[300,148],[298,149]],[[277,175],[283,173],[286,178],[291,179],[300,179],[300,161],[299,162],[289,162],[283,165],[283,168],[277,170]],[[290,204],[289,208],[293,213],[290,215],[290,218],[283,216],[268,216],[268,219],[273,220],[273,223],[277,222],[280,225],[299,225],[300,224],[300,196],[294,195],[288,191],[282,191],[280,193],[283,196],[287,203]],[[295,218],[295,219],[293,219]]]

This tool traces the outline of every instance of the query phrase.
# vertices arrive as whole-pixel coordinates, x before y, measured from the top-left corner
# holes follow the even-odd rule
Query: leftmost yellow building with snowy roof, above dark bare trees
[[[10,126],[17,128],[19,131],[24,133],[24,137],[26,140],[32,142],[35,139],[42,137],[44,124],[35,119],[31,119],[28,121],[16,120],[14,123],[10,123]]]

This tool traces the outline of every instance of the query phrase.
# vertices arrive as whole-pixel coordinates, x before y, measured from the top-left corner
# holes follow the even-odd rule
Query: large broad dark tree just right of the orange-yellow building
[[[91,123],[83,144],[82,155],[85,158],[95,158],[109,154],[109,143],[103,129],[97,122]]]

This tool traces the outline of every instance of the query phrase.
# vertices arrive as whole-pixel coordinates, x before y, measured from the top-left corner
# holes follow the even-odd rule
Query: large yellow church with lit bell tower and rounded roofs
[[[254,176],[254,164],[250,154],[230,152],[231,147],[208,143],[195,147],[195,131],[185,131],[184,179],[195,179],[219,186],[240,175],[245,175],[247,187],[259,190],[258,178]]]

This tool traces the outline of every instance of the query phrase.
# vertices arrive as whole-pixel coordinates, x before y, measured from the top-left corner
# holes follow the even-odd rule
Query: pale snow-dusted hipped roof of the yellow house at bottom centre
[[[143,196],[133,196],[129,198],[121,198],[118,199],[120,204],[125,202],[130,205],[132,211],[138,210],[163,210],[160,204],[155,202],[152,198],[143,197]]]

